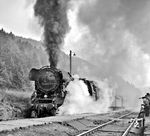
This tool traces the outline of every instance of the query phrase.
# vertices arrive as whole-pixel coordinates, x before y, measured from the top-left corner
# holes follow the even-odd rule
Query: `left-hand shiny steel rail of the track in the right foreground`
[[[98,126],[92,128],[92,129],[87,130],[87,131],[84,131],[84,132],[82,132],[82,133],[80,133],[80,134],[78,134],[78,135],[76,135],[76,136],[87,136],[88,134],[92,134],[92,133],[96,132],[97,130],[99,130],[100,128],[102,128],[102,127],[104,127],[104,126],[106,126],[106,125],[112,124],[112,123],[116,122],[117,120],[119,120],[119,119],[121,119],[121,118],[124,118],[124,117],[126,117],[126,116],[128,116],[128,115],[130,115],[130,114],[133,114],[133,112],[127,113],[127,114],[125,114],[125,115],[123,115],[123,116],[121,116],[121,117],[119,117],[119,118],[116,118],[116,119],[113,119],[113,120],[111,120],[111,121],[108,121],[108,122],[106,122],[106,123],[104,123],[104,124],[98,125]]]

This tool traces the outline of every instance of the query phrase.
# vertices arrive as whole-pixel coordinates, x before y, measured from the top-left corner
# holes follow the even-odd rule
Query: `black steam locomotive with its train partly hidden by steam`
[[[73,77],[64,71],[49,66],[31,69],[29,79],[35,82],[35,91],[31,96],[31,117],[55,116],[67,95],[66,87]],[[98,100],[98,87],[95,82],[80,78],[88,88],[94,100]]]

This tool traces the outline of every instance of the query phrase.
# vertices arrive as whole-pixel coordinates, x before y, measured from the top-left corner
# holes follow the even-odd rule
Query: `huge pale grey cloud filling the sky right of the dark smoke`
[[[70,5],[64,51],[72,49],[95,65],[92,78],[117,84],[116,95],[137,106],[150,86],[150,1],[71,0]]]

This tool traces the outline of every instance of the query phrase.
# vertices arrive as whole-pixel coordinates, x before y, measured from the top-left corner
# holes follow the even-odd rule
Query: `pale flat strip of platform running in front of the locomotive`
[[[65,122],[70,120],[80,120],[86,116],[92,116],[93,114],[79,114],[79,115],[67,115],[67,116],[52,116],[45,118],[27,118],[18,120],[0,121],[0,133],[7,131],[14,131],[22,128],[28,128],[32,126],[42,126],[51,124],[53,122]]]

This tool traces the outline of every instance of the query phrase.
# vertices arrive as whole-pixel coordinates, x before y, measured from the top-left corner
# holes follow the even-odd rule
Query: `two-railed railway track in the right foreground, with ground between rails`
[[[131,118],[132,114],[134,114],[135,119],[132,119],[129,124],[129,118]],[[76,136],[127,136],[130,133],[134,133],[131,130],[137,121],[139,121],[139,119],[136,118],[135,113],[130,112],[93,127],[92,129],[84,131]]]

